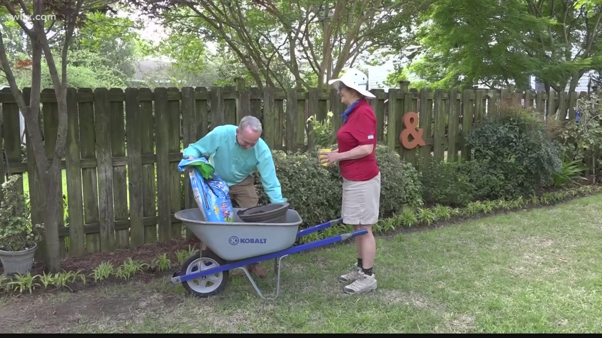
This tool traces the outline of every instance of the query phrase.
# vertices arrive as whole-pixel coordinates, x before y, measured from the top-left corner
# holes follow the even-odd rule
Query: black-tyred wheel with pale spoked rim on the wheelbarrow
[[[206,270],[224,264],[224,260],[211,251],[203,251],[202,255],[200,251],[196,251],[182,263],[180,275],[192,274],[199,271],[199,269]],[[195,297],[206,298],[217,295],[217,293],[220,293],[226,287],[228,275],[229,271],[226,270],[217,274],[184,281],[182,282],[182,286]]]

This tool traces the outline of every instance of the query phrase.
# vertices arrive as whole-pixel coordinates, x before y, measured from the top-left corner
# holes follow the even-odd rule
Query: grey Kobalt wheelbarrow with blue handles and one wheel
[[[284,223],[244,223],[238,217],[238,210],[241,209],[234,208],[235,220],[228,223],[207,222],[198,208],[176,212],[176,219],[182,221],[211,251],[197,250],[188,257],[182,263],[180,271],[173,274],[173,284],[182,284],[191,295],[206,298],[217,295],[226,287],[229,271],[241,269],[259,297],[268,299],[261,293],[246,266],[273,259],[277,275],[276,296],[269,299],[275,299],[280,294],[281,263],[284,257],[368,232],[367,229],[361,229],[295,245],[297,238],[341,223],[343,218],[299,230],[303,221],[293,209],[287,210]]]

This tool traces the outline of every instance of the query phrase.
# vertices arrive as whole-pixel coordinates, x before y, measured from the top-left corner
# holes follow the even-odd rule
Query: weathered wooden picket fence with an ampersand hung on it
[[[513,93],[504,90],[372,90],[377,118],[377,139],[396,149],[405,161],[425,168],[434,159],[468,158],[465,136],[486,114],[497,114],[500,103],[515,100],[535,106],[544,115],[574,118],[577,97],[586,93]],[[28,100],[29,88],[23,90]],[[68,131],[63,168],[66,172],[68,224],[60,217],[61,257],[190,236],[173,216],[193,207],[185,176],[177,169],[182,150],[220,124],[237,124],[244,115],[258,117],[263,138],[272,149],[312,147],[306,119],[320,120],[328,111],[338,117],[346,108],[335,90],[277,91],[274,88],[69,88]],[[386,101],[386,102],[385,102]],[[36,194],[40,182],[31,147],[22,147],[19,109],[10,89],[0,92],[4,158],[7,174],[27,173],[32,218],[42,221],[43,201]],[[426,145],[406,149],[400,144],[402,116],[420,117]],[[553,114],[550,114],[553,112]],[[48,156],[52,156],[58,128],[53,90],[43,90],[40,114]],[[395,131],[395,132],[391,132]],[[29,141],[29,140],[27,140]],[[445,156],[447,153],[447,156]]]

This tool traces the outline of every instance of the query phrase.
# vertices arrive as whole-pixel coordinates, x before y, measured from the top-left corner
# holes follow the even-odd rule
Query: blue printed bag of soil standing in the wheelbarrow
[[[178,170],[190,168],[190,185],[194,200],[208,222],[234,222],[228,184],[213,171],[205,158],[182,159]]]

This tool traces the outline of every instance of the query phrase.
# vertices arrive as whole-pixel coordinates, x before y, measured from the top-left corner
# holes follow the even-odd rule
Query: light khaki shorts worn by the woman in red
[[[367,181],[343,179],[343,223],[370,225],[378,221],[380,209],[380,173]]]

